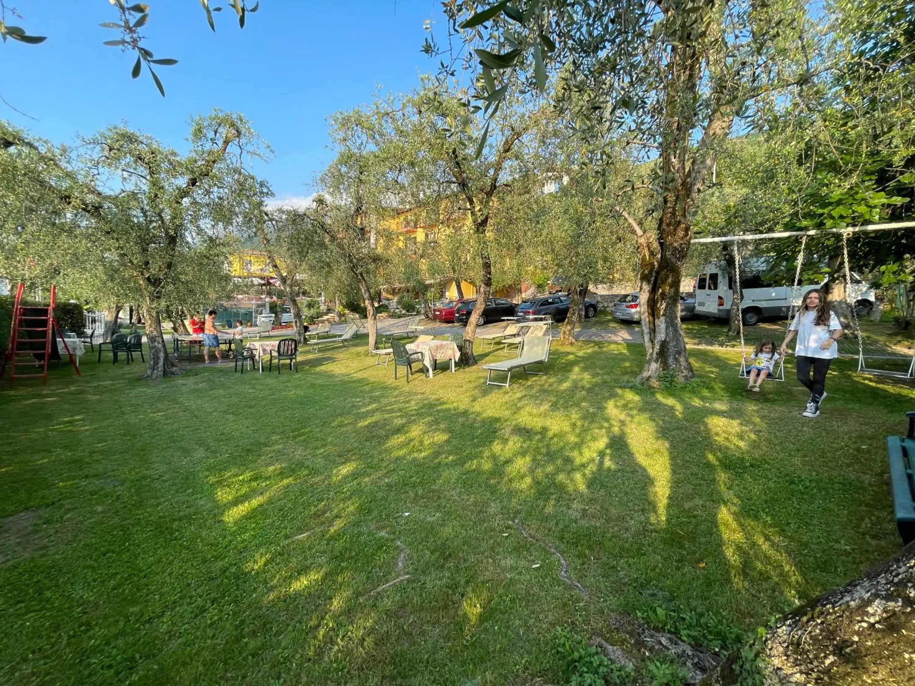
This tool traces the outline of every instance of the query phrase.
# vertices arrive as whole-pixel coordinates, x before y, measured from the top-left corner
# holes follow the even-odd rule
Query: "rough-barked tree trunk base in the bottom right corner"
[[[761,638],[767,685],[915,683],[915,543],[843,588],[781,616]],[[704,686],[739,683],[738,654]]]

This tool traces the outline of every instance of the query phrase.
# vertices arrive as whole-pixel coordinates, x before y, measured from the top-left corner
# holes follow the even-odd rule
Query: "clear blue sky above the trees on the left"
[[[242,112],[274,148],[257,172],[283,199],[307,196],[332,158],[329,114],[370,102],[379,86],[410,90],[435,70],[437,60],[419,51],[423,22],[444,21],[437,0],[261,0],[243,29],[225,6],[213,33],[196,0],[146,4],[145,47],[179,60],[156,70],[167,97],[147,73],[130,78],[130,53],[102,46],[119,38],[99,27],[117,20],[105,0],[18,0],[22,18],[7,24],[48,40],[0,45],[0,94],[38,121],[2,102],[0,118],[55,143],[126,121],[181,150],[192,115]]]

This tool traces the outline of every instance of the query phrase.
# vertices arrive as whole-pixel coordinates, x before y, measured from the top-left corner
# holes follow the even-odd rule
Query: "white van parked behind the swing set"
[[[765,277],[768,261],[764,258],[741,261],[740,285],[744,298],[740,304],[744,324],[753,327],[759,324],[761,316],[788,316],[791,313],[791,284],[774,284]],[[825,283],[825,282],[823,282]],[[796,291],[794,307],[803,302],[803,296],[823,284],[802,284]],[[727,319],[734,299],[734,278],[727,270],[727,263],[705,264],[695,280],[695,314],[716,316]],[[858,316],[867,315],[874,306],[874,291],[862,279],[852,273],[852,284],[848,287],[848,299],[853,300]]]

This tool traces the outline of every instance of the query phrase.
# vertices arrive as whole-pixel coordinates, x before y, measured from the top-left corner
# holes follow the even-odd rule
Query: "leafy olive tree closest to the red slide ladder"
[[[12,137],[3,139],[0,155],[38,147],[6,133]],[[182,155],[151,136],[112,126],[83,139],[78,157],[39,151],[42,164],[27,166],[21,179],[49,208],[66,212],[80,244],[119,274],[118,283],[131,285],[129,302],[140,303],[145,315],[149,379],[175,370],[163,316],[228,287],[226,237],[263,201],[244,164],[264,155],[264,145],[242,115],[196,117],[189,140]]]

